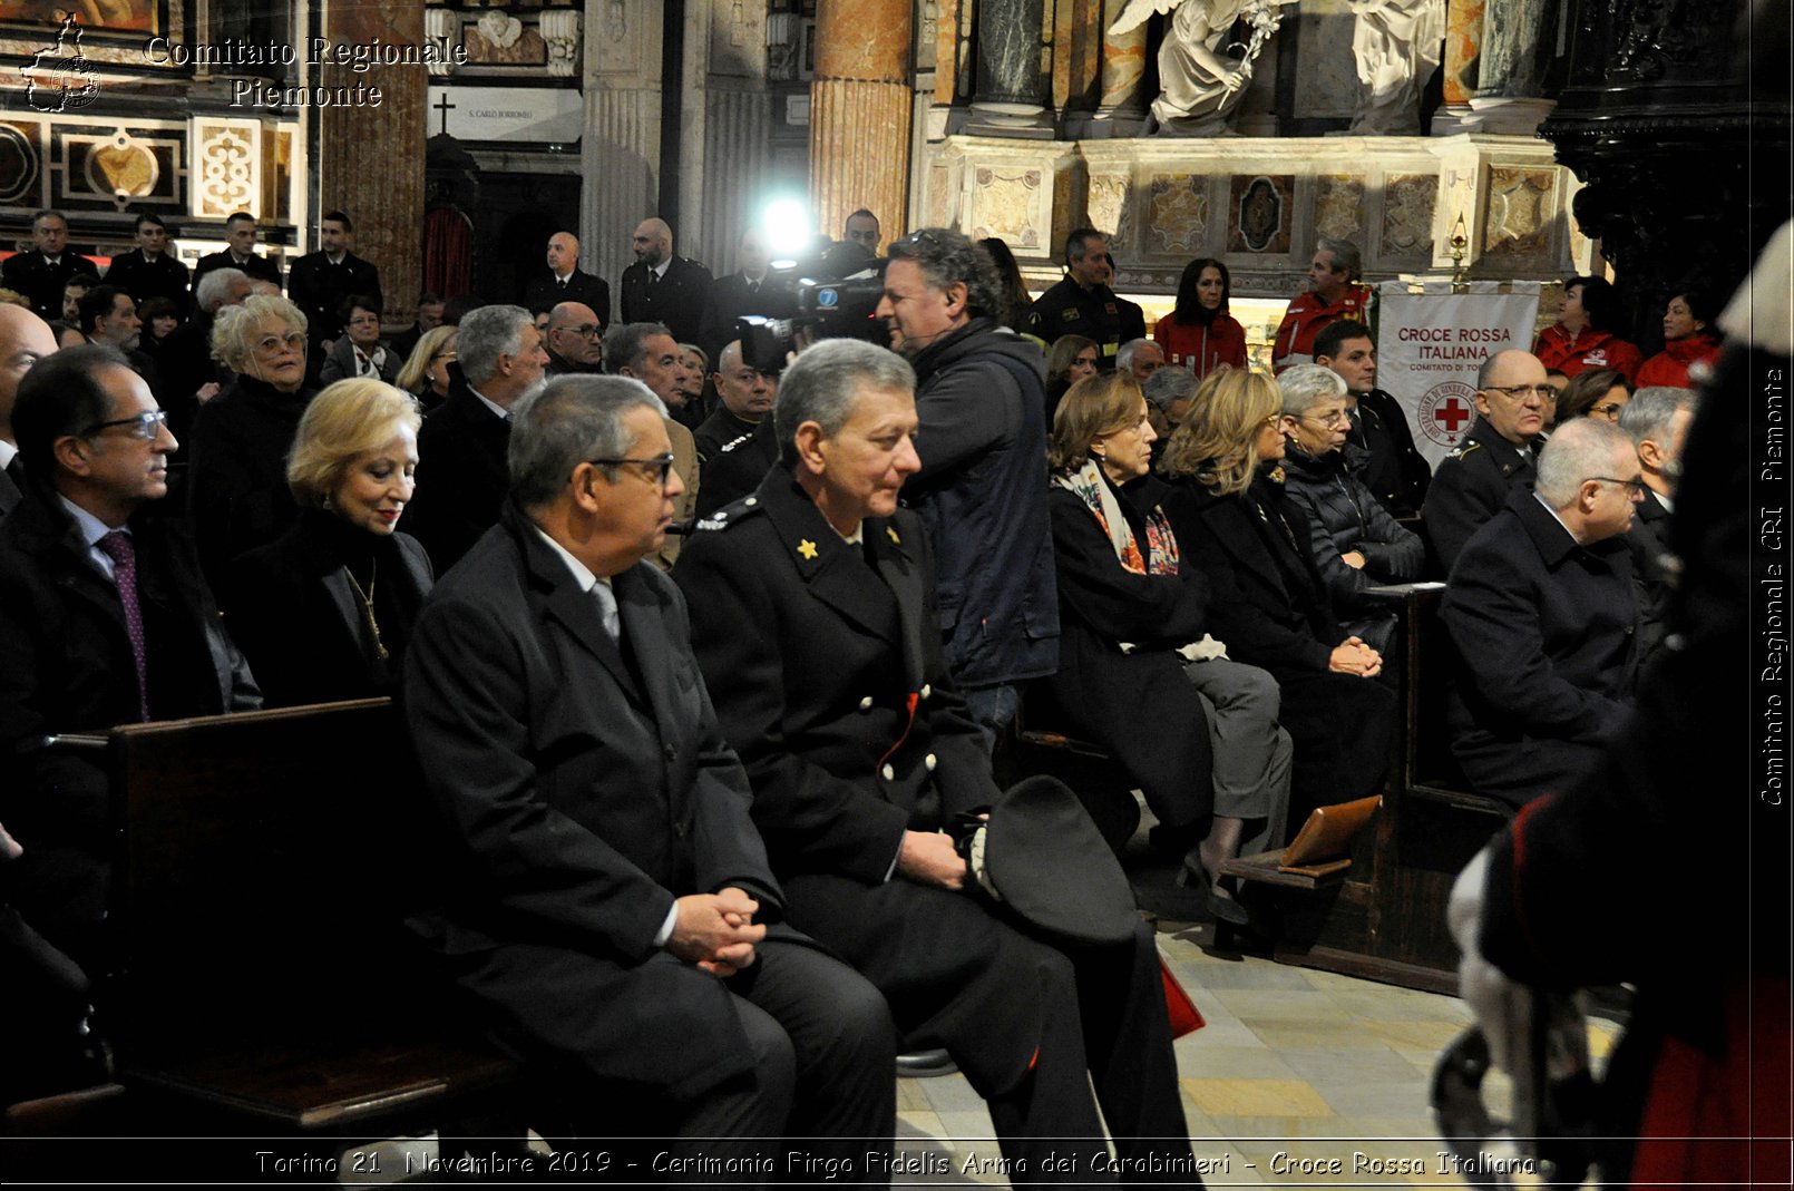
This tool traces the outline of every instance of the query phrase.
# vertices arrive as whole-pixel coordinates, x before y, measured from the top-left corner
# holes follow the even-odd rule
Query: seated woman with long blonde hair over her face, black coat
[[[1268,377],[1232,369],[1202,382],[1159,470],[1164,511],[1211,588],[1209,631],[1283,689],[1295,741],[1292,822],[1317,805],[1378,793],[1396,696],[1383,658],[1333,617],[1311,529],[1283,491],[1283,398]]]

